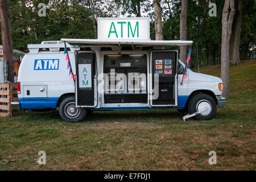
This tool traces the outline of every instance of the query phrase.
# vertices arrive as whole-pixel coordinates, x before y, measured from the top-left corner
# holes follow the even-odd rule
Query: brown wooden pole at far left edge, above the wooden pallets
[[[3,43],[3,59],[7,61],[8,77],[7,80],[14,82],[13,72],[13,44],[11,42],[11,24],[9,0],[0,0],[1,30]]]

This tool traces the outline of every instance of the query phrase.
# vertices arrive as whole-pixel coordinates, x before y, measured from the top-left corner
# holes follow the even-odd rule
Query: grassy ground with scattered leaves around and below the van
[[[220,66],[200,71],[220,76]],[[255,60],[230,68],[230,96],[211,121],[184,122],[176,110],[95,111],[81,123],[56,112],[0,118],[0,170],[255,170]]]

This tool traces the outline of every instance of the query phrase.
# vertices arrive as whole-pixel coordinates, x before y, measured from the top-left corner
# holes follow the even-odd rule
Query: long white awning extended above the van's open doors
[[[100,39],[61,39],[72,46],[191,46],[191,40],[100,40]]]

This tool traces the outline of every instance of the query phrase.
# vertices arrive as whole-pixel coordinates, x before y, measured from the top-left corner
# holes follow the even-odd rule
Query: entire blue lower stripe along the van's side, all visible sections
[[[178,96],[178,104],[177,108],[182,109],[185,107],[185,104],[188,100],[189,96]],[[57,101],[59,97],[30,97],[28,98],[19,98],[19,104],[21,109],[44,109],[44,108],[53,108],[57,107]],[[102,107],[102,110],[108,110],[108,107]],[[113,110],[113,107],[111,108]],[[129,108],[120,108],[117,107],[116,109],[131,109]],[[152,109],[150,107],[134,107],[133,109]]]

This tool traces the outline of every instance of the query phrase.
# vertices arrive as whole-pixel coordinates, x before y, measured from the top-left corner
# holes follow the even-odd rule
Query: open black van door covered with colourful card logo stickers
[[[150,52],[150,106],[177,106],[177,60],[177,50]]]

